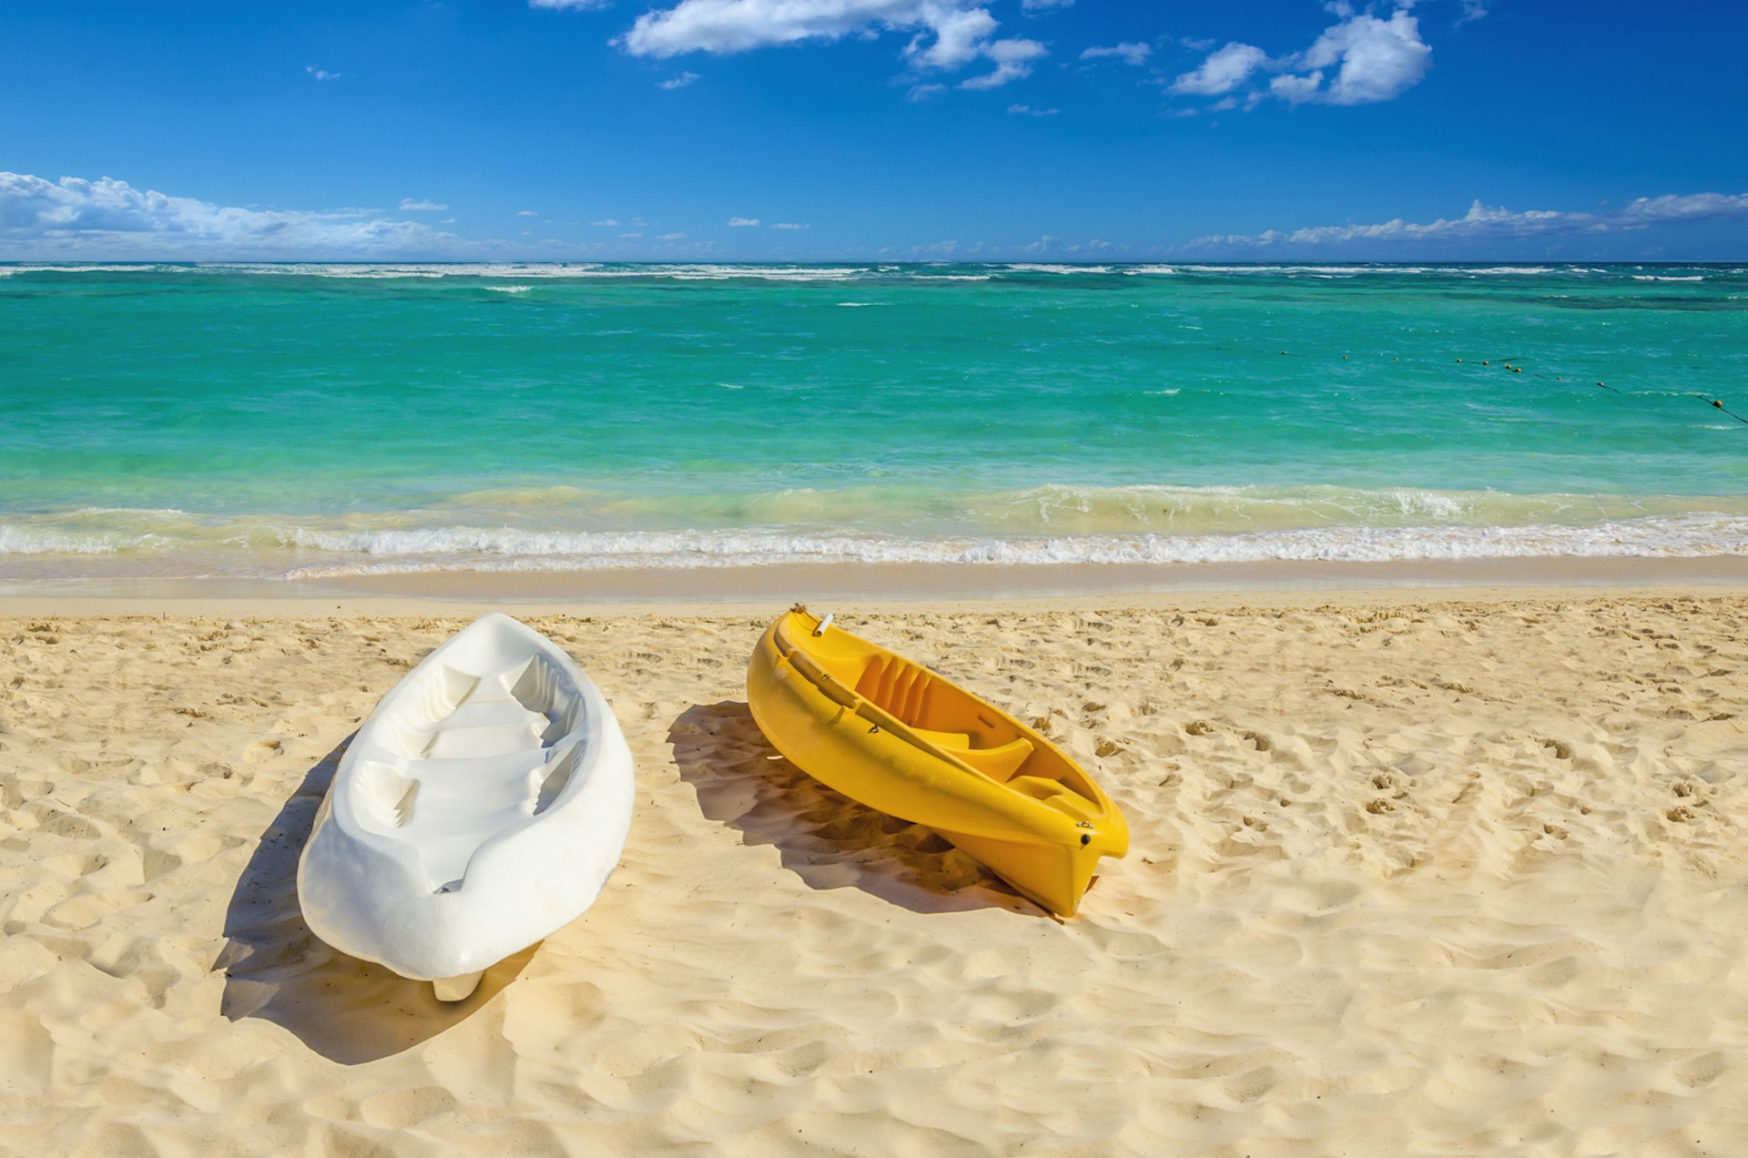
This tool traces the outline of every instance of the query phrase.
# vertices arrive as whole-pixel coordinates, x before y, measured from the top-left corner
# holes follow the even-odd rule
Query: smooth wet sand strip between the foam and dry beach
[[[1416,560],[1390,563],[1269,562],[1171,565],[965,565],[965,563],[811,563],[703,569],[603,569],[584,572],[413,572],[346,579],[161,579],[0,581],[0,616],[101,614],[124,607],[187,603],[273,605],[287,614],[322,603],[385,610],[460,612],[467,607],[638,609],[767,607],[788,602],[844,602],[857,607],[921,610],[928,605],[1077,607],[1087,600],[1124,605],[1208,600],[1318,598],[1342,603],[1360,595],[1402,602],[1446,598],[1535,598],[1627,591],[1732,593],[1748,588],[1748,556],[1703,558],[1507,558]]]

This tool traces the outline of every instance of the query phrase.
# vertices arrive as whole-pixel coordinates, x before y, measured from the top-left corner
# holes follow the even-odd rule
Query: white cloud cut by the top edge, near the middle
[[[988,89],[1028,75],[1028,61],[1047,54],[1037,40],[996,40],[996,28],[989,9],[972,0],[680,0],[640,16],[615,44],[633,56],[669,58],[909,31],[904,56],[919,68],[995,61],[995,72],[961,86]]]

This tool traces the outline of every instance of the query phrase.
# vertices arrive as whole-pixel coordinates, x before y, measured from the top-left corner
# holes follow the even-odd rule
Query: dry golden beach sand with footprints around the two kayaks
[[[1748,596],[834,607],[1124,808],[1059,922],[764,742],[785,603],[507,607],[638,803],[439,1006],[299,917],[348,736],[456,605],[0,603],[0,1149],[1748,1151]]]

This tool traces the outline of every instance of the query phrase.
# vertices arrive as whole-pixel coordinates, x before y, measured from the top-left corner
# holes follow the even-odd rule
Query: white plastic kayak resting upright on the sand
[[[533,628],[489,614],[376,707],[297,864],[309,931],[460,1001],[575,920],[631,829],[631,749]]]

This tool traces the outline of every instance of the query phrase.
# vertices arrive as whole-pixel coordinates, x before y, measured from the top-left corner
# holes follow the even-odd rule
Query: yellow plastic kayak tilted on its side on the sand
[[[792,764],[926,824],[1052,913],[1072,917],[1129,826],[1061,749],[958,684],[795,607],[746,665],[759,728]]]

